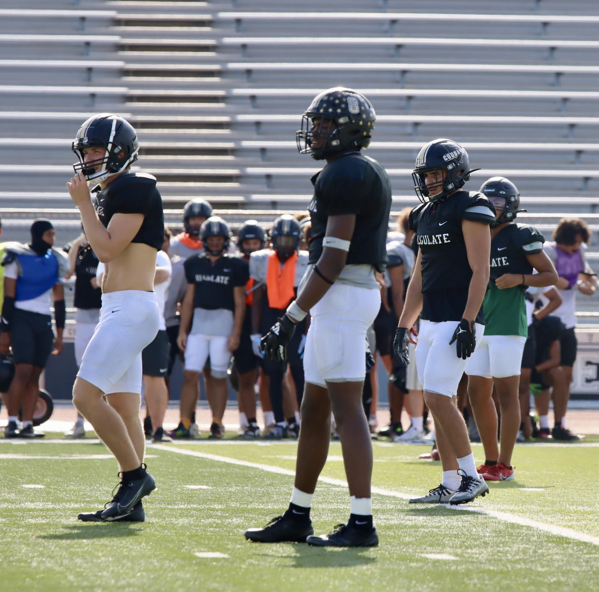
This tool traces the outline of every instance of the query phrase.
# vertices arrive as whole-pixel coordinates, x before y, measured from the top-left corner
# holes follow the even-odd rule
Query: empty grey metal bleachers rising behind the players
[[[337,84],[376,108],[367,153],[389,171],[394,212],[416,203],[419,147],[450,137],[483,168],[471,188],[509,176],[528,209],[520,218],[547,237],[566,215],[599,231],[598,2],[322,5],[0,0],[3,238],[25,240],[40,215],[59,241],[77,232],[70,143],[99,111],[138,129],[136,167],[158,178],[171,224],[192,197],[233,223],[305,209],[318,165],[298,155],[295,130]],[[597,299],[579,300],[592,322]]]

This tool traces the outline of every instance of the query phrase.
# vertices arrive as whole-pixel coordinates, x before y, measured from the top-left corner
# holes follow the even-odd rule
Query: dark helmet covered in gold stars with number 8
[[[314,97],[295,132],[300,154],[322,160],[339,152],[361,150],[370,144],[376,113],[355,90],[335,87]]]

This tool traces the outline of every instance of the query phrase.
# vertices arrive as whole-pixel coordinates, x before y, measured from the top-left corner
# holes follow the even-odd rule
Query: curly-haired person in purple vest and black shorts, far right
[[[555,264],[559,279],[556,283],[562,298],[561,306],[555,311],[565,328],[559,337],[561,348],[561,367],[564,369],[565,396],[560,400],[554,398],[555,426],[552,436],[555,440],[579,440],[565,427],[565,412],[570,398],[572,383],[572,367],[576,360],[576,292],[592,296],[597,290],[597,274],[589,266],[585,258],[586,245],[591,238],[587,223],[581,218],[562,218],[553,231],[555,242],[546,244],[545,252]]]

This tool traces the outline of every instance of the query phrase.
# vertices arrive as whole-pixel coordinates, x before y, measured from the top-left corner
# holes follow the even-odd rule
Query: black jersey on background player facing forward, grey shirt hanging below
[[[243,257],[223,255],[212,262],[206,253],[192,255],[183,264],[187,283],[195,285],[193,307],[235,311],[233,288],[245,286],[250,268]]]

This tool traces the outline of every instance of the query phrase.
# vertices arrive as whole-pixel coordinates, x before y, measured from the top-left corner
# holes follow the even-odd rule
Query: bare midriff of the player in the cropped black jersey
[[[102,292],[122,290],[154,291],[156,249],[144,243],[129,243],[122,253],[106,264]]]

